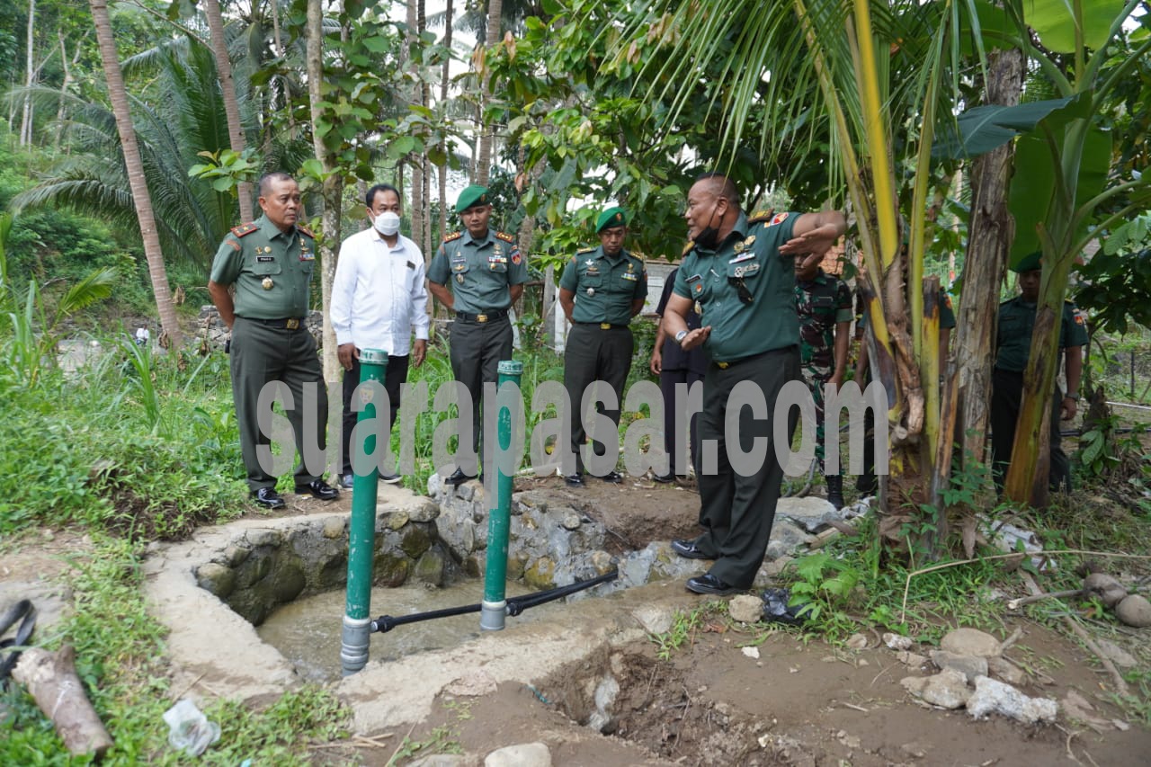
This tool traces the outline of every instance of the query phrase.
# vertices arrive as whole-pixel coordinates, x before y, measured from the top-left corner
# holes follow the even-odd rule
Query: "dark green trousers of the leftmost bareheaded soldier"
[[[231,328],[231,394],[236,403],[236,425],[239,427],[239,449],[252,491],[275,487],[272,460],[267,448],[270,434],[259,425],[260,392],[274,382],[282,382],[291,394],[292,407],[284,408],[291,424],[296,453],[296,484],[319,479],[325,470],[327,448],[328,389],[323,370],[315,355],[315,339],[304,322],[297,329],[287,329],[283,321],[276,327],[260,320],[237,317]],[[314,384],[305,389],[306,384]],[[305,418],[308,416],[308,418]],[[267,416],[265,416],[267,418]],[[259,450],[264,446],[264,450]],[[265,458],[260,460],[260,453]]]

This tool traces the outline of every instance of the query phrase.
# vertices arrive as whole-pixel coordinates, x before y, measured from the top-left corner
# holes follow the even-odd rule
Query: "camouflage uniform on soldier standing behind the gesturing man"
[[[815,457],[823,470],[823,386],[836,372],[836,325],[852,320],[852,293],[847,283],[818,269],[810,280],[795,280],[799,312],[799,364],[803,382],[815,401]],[[837,440],[838,442],[838,440]]]

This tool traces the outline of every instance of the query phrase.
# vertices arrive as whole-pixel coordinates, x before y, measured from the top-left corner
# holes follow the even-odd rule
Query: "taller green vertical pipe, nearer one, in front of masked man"
[[[383,386],[388,370],[388,354],[379,349],[360,351],[360,384],[376,381]],[[367,389],[364,389],[367,390]],[[387,412],[387,411],[386,411]],[[375,403],[368,400],[356,419],[361,424],[375,418]],[[360,430],[361,445],[352,445],[352,470],[357,455],[375,454],[375,434],[371,428]],[[375,456],[376,458],[379,456]],[[352,517],[348,524],[348,602],[344,610],[343,635],[340,646],[340,665],[344,676],[355,674],[367,665],[367,651],[372,636],[372,555],[375,548],[375,500],[379,492],[379,461],[366,474],[356,473],[352,485]]]

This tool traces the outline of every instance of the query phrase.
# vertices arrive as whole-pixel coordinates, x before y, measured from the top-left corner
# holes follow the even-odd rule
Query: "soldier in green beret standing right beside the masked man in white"
[[[472,397],[473,454],[459,456],[456,471],[445,480],[449,485],[475,478],[483,384],[495,384],[500,360],[511,359],[508,310],[527,282],[527,264],[516,238],[488,228],[491,202],[485,187],[472,184],[460,192],[456,212],[464,222],[464,231],[444,237],[428,267],[428,290],[456,313],[451,327],[451,372]]]

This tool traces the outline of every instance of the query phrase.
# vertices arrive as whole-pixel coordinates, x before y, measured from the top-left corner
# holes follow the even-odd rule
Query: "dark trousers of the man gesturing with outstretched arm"
[[[786,418],[787,445],[799,423],[799,409],[780,412],[776,408],[779,392],[788,381],[801,381],[799,349],[787,347],[732,363],[726,369],[711,365],[703,378],[703,413],[700,420],[700,440],[703,445],[703,472],[700,474],[700,525],[703,534],[695,544],[701,552],[715,559],[711,575],[739,588],[749,587],[763,563],[771,525],[776,518],[776,502],[784,470],[776,457],[772,423]],[[767,439],[767,453],[750,472],[732,466],[724,433],[732,389],[741,381],[750,381],[763,393],[768,405],[765,418],[755,418],[750,408],[741,408],[738,419],[739,449],[750,451],[753,440]],[[708,442],[716,445],[716,471],[709,473]],[[735,446],[731,447],[732,450]]]

